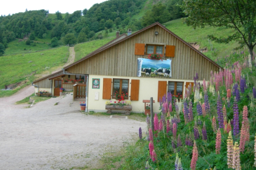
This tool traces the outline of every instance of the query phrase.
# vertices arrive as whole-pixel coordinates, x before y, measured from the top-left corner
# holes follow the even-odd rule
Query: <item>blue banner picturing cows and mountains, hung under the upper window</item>
[[[151,60],[138,58],[137,77],[141,76],[171,78],[171,59]]]

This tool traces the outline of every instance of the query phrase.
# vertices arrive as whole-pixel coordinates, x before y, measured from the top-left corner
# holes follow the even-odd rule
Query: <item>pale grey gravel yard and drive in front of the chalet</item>
[[[31,108],[14,104],[33,92],[29,86],[0,98],[0,169],[90,169],[104,152],[146,129],[140,121],[82,114],[70,94]]]

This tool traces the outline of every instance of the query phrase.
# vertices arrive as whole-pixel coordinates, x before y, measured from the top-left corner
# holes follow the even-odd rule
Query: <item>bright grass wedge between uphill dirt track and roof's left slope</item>
[[[76,52],[75,61],[80,60],[84,56],[88,55],[89,53],[103,46],[104,44],[107,44],[107,42],[112,41],[112,39],[115,39],[115,38],[116,37],[109,37],[109,38],[97,39],[94,41],[88,41],[88,42],[76,44],[76,46],[74,46],[74,50]]]

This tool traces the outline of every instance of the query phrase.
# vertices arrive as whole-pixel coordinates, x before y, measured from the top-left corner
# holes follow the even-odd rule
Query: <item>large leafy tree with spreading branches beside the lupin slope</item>
[[[240,43],[240,48],[247,46],[251,59],[256,39],[256,1],[238,0],[187,0],[183,1],[182,8],[187,18],[185,23],[204,28],[206,25],[213,27],[226,27],[234,30],[232,35],[209,35],[208,38],[219,43],[229,43],[232,40]],[[253,61],[253,60],[252,60]]]

